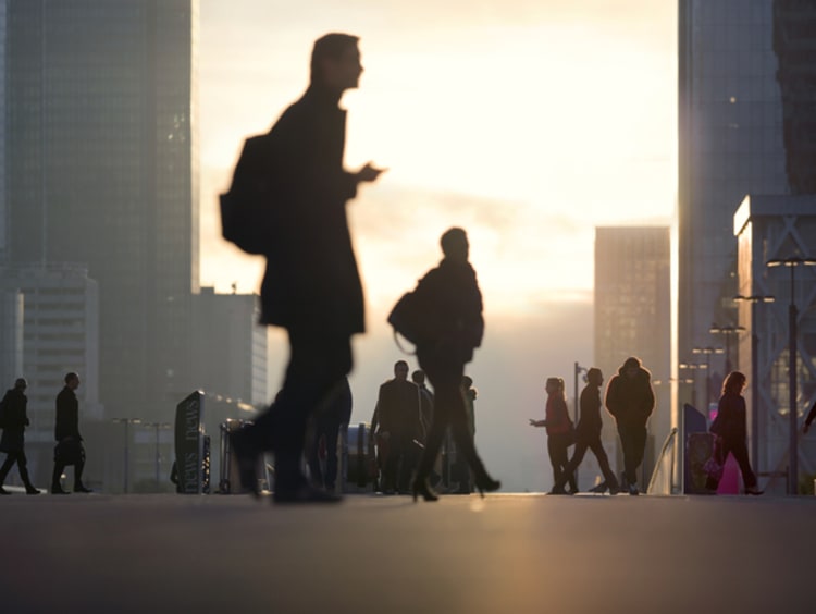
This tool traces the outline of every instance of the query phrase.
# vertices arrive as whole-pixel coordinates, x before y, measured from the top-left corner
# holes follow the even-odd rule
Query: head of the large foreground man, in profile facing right
[[[318,38],[311,51],[311,83],[336,91],[359,85],[362,65],[359,37],[331,33]]]

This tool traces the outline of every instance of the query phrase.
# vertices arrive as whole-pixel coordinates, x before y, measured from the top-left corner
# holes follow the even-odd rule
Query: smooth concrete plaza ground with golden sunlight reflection
[[[816,498],[0,498],[0,611],[815,612]]]

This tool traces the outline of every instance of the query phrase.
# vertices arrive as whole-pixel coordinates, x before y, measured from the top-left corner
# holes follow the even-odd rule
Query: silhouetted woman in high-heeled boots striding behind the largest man
[[[431,469],[448,426],[456,441],[457,454],[473,471],[480,493],[498,490],[502,483],[487,474],[468,432],[468,415],[461,390],[465,365],[473,359],[473,349],[482,343],[484,319],[482,293],[475,271],[468,261],[468,235],[453,228],[442,235],[444,258],[423,277],[415,294],[428,306],[437,322],[437,336],[417,344],[417,358],[434,391],[433,423],[413,480],[413,500],[437,501],[428,483]]]

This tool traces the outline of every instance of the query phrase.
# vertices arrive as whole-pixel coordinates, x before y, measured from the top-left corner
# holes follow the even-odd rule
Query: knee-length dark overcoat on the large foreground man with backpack
[[[262,323],[363,332],[362,284],[346,219],[357,181],[343,168],[346,111],[337,102],[311,86],[258,137],[270,216]]]

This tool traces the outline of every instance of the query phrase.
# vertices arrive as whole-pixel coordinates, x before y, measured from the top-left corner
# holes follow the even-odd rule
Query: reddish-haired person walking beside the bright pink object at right
[[[740,371],[731,371],[722,383],[722,395],[717,406],[717,417],[708,429],[717,435],[715,454],[720,466],[726,464],[728,454],[733,455],[740,466],[742,482],[746,494],[762,494],[756,486],[756,476],[751,468],[747,454],[747,430],[745,428],[745,390],[746,379]],[[718,480],[712,476],[706,481],[706,490],[716,492]]]

